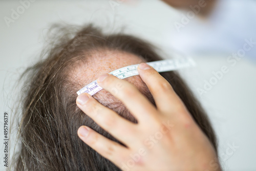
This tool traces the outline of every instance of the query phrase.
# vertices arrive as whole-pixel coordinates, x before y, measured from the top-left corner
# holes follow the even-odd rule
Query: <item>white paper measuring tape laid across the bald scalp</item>
[[[165,59],[165,60],[158,60],[158,61],[146,62],[146,63],[151,67],[153,67],[157,72],[173,71],[180,68],[194,67],[196,65],[194,60],[188,57],[177,58],[177,59]],[[124,79],[134,75],[139,75],[137,71],[138,65],[139,64],[123,67],[115,71],[112,71],[109,74],[112,74],[120,79]],[[87,84],[76,93],[78,95],[82,93],[88,93],[92,96],[95,93],[99,92],[100,90],[102,90],[102,88],[97,83],[97,80],[94,80],[93,82],[91,82],[90,84]]]

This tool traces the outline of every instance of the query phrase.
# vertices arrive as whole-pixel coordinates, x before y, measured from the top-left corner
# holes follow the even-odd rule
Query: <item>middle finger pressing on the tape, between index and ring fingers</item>
[[[133,84],[109,74],[101,75],[97,82],[100,87],[121,100],[138,122],[149,121],[156,114],[155,106]]]

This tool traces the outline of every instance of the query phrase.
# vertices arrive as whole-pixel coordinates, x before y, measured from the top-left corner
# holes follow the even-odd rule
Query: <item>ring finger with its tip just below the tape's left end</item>
[[[76,99],[76,103],[84,113],[116,139],[124,144],[133,143],[131,136],[134,136],[134,132],[136,133],[135,123],[122,118],[87,93],[80,94]]]

